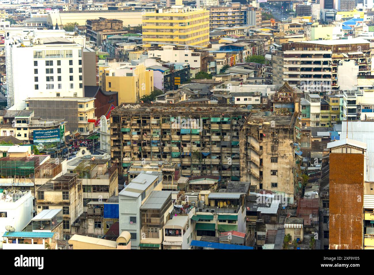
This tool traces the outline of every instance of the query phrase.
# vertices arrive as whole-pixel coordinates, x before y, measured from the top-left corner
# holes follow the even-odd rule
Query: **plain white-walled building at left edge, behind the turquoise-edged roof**
[[[22,231],[33,218],[33,196],[31,191],[1,191],[0,192],[0,236],[7,231],[6,226],[12,226],[16,231]],[[0,248],[2,243],[0,242]]]

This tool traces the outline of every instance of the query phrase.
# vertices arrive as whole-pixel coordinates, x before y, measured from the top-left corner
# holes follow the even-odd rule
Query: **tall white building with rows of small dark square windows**
[[[84,38],[64,30],[15,32],[5,40],[8,107],[32,97],[83,97]]]

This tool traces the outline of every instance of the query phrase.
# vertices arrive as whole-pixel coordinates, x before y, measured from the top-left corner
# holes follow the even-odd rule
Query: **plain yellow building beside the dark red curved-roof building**
[[[140,64],[111,62],[102,68],[101,87],[106,92],[118,92],[118,103],[138,102],[153,92],[153,71]]]

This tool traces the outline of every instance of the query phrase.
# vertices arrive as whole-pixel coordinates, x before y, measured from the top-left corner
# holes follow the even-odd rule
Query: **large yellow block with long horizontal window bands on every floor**
[[[183,6],[158,9],[143,15],[143,43],[208,46],[209,11]]]

